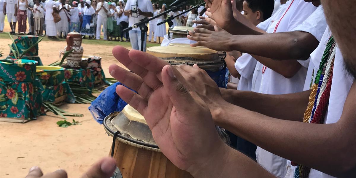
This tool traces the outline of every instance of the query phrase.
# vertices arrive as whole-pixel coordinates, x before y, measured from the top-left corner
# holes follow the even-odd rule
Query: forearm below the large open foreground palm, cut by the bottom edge
[[[226,177],[264,177],[275,178],[258,163],[239,151],[225,146],[225,152],[218,160],[206,163],[198,171],[192,172],[195,178],[226,178]],[[213,153],[212,157],[219,152]]]

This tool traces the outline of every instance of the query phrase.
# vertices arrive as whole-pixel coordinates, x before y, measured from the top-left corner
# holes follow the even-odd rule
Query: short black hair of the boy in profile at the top
[[[274,9],[274,0],[245,0],[252,12],[261,11],[263,14],[263,21],[272,16]]]

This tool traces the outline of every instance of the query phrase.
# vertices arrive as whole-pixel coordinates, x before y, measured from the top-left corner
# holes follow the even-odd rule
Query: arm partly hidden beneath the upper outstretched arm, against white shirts
[[[296,60],[276,61],[271,58],[256,56],[253,54],[251,56],[266,67],[283,75],[285,78],[292,78],[302,67],[302,65]]]

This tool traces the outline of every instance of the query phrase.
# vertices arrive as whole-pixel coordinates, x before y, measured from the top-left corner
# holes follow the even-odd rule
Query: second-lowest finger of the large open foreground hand
[[[153,91],[145,82],[143,82],[140,76],[129,72],[115,64],[112,64],[109,67],[109,72],[111,76],[114,77],[117,81],[137,91],[137,93],[145,99],[149,98]]]

